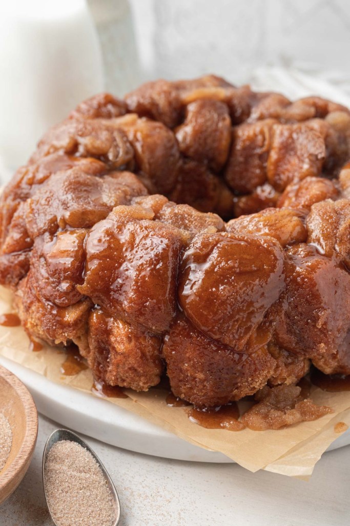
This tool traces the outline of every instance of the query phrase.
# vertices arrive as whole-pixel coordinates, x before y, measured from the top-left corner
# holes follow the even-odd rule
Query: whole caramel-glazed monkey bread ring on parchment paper
[[[310,362],[348,375],[349,159],[350,113],[319,97],[215,76],[92,97],[3,191],[0,282],[111,386],[166,370],[210,407]]]

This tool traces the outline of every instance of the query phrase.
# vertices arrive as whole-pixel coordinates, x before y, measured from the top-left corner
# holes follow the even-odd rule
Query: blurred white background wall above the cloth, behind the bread
[[[237,84],[278,66],[350,94],[348,0],[130,0],[144,76],[216,73]]]

